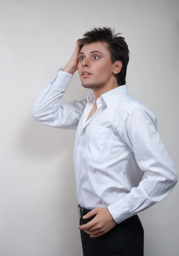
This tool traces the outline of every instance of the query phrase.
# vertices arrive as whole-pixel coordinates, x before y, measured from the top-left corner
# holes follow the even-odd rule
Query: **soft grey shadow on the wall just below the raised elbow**
[[[24,122],[20,134],[20,151],[29,157],[51,157],[73,151],[76,130],[52,128],[33,118]],[[70,153],[71,154],[71,153]]]

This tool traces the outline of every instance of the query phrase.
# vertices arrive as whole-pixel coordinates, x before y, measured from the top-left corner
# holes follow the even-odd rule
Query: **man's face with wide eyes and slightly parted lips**
[[[78,62],[78,73],[82,86],[91,89],[103,87],[110,81],[113,73],[107,44],[101,42],[84,44],[80,52],[84,52],[79,54]],[[91,75],[84,76],[85,71],[90,72]]]

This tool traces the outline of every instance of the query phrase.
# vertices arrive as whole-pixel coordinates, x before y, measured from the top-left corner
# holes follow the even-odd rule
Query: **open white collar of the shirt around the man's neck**
[[[109,90],[106,93],[103,93],[97,101],[99,101],[100,98],[104,100],[106,103],[107,107],[109,108],[119,97],[121,97],[124,93],[128,93],[127,91],[127,84],[118,86],[114,88],[113,90]],[[87,93],[87,101],[94,101],[95,100],[95,95],[93,91],[90,91]]]

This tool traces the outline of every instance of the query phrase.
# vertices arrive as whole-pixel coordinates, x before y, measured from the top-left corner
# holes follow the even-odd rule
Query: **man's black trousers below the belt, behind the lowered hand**
[[[85,209],[83,215],[90,212]],[[88,223],[80,218],[80,226]],[[92,237],[80,230],[84,256],[144,256],[144,229],[138,215],[117,224],[112,230],[99,237]]]

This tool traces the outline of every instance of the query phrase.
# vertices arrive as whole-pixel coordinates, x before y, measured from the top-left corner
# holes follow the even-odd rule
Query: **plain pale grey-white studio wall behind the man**
[[[75,131],[32,119],[35,100],[76,40],[109,26],[127,41],[128,91],[153,111],[179,169],[179,1],[0,0],[0,256],[82,256]],[[64,102],[86,97],[78,71]],[[178,256],[179,185],[139,213],[145,256]]]

